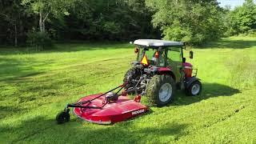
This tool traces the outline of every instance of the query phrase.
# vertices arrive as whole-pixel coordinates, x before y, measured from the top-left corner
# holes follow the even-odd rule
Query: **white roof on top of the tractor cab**
[[[159,39],[138,39],[135,45],[141,46],[184,46],[183,42],[165,41]]]

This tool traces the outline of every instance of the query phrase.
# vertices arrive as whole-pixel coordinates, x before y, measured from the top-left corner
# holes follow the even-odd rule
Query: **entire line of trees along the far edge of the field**
[[[0,44],[164,38],[200,45],[254,34],[256,5],[230,10],[217,0],[0,0]]]

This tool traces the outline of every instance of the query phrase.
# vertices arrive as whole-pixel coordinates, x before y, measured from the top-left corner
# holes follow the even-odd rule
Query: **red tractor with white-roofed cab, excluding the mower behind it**
[[[186,47],[182,42],[138,39],[134,44],[137,60],[123,80],[129,82],[125,87],[128,93],[145,94],[156,106],[171,102],[176,90],[185,90],[191,96],[200,94],[202,84],[196,77],[197,69],[186,62],[183,56]],[[193,58],[191,50],[190,58]]]

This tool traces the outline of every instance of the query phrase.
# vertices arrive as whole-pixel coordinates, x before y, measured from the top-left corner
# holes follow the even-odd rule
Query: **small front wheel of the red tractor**
[[[202,83],[200,81],[195,81],[190,84],[185,90],[186,95],[196,96],[199,95],[202,91]]]

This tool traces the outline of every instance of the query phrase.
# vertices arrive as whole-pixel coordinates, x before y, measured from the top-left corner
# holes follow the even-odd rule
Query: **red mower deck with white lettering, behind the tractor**
[[[78,102],[91,102],[82,104],[82,106],[102,107],[105,102],[105,97],[97,98],[101,94],[93,94],[81,98]],[[107,103],[102,109],[80,108],[74,107],[74,114],[87,122],[98,124],[110,124],[115,122],[122,122],[128,118],[134,118],[140,114],[145,113],[148,107],[142,105],[140,102],[131,100],[127,96],[119,96],[118,101]]]

